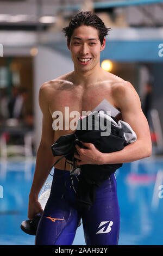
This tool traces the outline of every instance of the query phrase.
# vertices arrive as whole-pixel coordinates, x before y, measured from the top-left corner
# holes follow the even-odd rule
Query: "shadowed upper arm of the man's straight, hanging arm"
[[[49,88],[48,84],[42,84],[39,90],[39,105],[42,111],[42,145],[51,146],[54,143],[54,130],[52,127],[53,119],[49,112]]]

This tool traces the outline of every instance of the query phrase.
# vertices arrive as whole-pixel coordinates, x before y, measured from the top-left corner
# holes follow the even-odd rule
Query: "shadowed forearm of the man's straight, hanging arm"
[[[37,199],[39,192],[48,177],[48,170],[51,168],[53,163],[54,157],[52,155],[51,148],[40,146],[37,150],[35,173],[29,198]]]

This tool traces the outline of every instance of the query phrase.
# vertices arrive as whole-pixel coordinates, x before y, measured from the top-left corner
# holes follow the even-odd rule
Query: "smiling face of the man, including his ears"
[[[101,45],[98,30],[91,26],[82,25],[74,29],[70,45],[67,41],[67,46],[71,51],[74,69],[89,71],[99,66],[100,52],[105,48],[105,38]]]

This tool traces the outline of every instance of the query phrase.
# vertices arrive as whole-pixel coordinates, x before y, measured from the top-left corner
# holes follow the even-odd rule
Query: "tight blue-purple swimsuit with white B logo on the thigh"
[[[36,245],[72,245],[81,218],[86,245],[118,244],[120,208],[115,175],[111,174],[96,188],[95,202],[82,214],[75,203],[78,179],[80,175],[74,175],[72,187],[70,172],[54,169],[51,194],[37,228]]]

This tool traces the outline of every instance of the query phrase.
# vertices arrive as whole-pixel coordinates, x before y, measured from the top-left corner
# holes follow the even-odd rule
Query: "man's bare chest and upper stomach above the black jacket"
[[[78,87],[55,92],[50,101],[49,111],[53,118],[53,129],[58,131],[57,135],[76,130],[79,117],[92,112],[104,99],[117,108],[111,90],[105,87]]]

